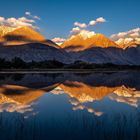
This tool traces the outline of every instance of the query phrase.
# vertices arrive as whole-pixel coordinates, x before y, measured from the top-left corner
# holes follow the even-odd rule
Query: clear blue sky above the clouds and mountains
[[[74,22],[104,17],[107,22],[90,30],[110,36],[139,27],[139,7],[140,0],[3,0],[0,16],[19,18],[29,11],[41,18],[36,24],[47,38],[66,38]]]

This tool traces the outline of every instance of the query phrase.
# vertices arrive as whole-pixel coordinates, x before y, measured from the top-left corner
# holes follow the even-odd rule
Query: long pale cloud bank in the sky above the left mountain
[[[38,29],[38,27],[35,26],[34,24],[35,24],[35,20],[28,19],[26,17],[20,17],[20,18],[11,17],[7,19],[4,17],[0,17],[0,25],[2,26],[8,26],[13,28],[27,26],[33,29]]]

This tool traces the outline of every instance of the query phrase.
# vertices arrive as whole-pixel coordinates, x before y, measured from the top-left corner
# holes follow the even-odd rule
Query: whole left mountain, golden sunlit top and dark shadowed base
[[[51,40],[29,27],[0,28],[0,58],[12,60],[18,57],[25,62],[57,60],[70,63],[71,58]]]

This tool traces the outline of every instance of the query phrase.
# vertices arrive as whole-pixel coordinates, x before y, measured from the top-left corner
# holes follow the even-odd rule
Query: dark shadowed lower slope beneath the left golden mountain
[[[67,64],[72,61],[69,55],[63,50],[42,43],[0,46],[0,58],[12,60],[15,57],[25,62],[57,60]]]

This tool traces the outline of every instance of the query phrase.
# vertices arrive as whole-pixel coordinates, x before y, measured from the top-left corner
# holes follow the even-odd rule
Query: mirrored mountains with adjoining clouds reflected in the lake
[[[4,75],[5,78],[0,79],[0,111],[28,111],[27,108],[47,92],[56,95],[66,94],[73,110],[87,109],[99,116],[100,113],[94,111],[94,108],[89,108],[86,103],[101,101],[108,97],[114,102],[137,107],[140,99],[139,75],[139,72],[87,75],[61,73],[46,76],[25,74],[18,80],[15,75]]]

